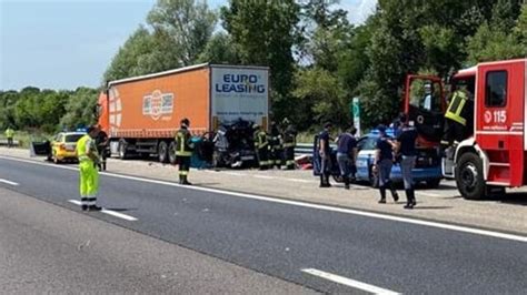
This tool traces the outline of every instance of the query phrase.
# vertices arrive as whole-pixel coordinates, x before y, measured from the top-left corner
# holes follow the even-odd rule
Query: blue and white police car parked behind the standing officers
[[[386,133],[388,136],[395,138],[395,130],[387,129]],[[371,131],[365,136],[361,136],[357,142],[357,181],[369,182],[372,186],[376,185],[376,175],[372,172],[375,163],[375,149],[377,140],[379,139],[379,132],[377,130]],[[416,166],[412,170],[412,176],[415,183],[425,182],[427,187],[435,189],[439,186],[443,179],[440,157],[435,151],[419,151],[416,159]],[[402,174],[400,165],[395,163],[391,167],[390,177],[394,182],[402,182]]]

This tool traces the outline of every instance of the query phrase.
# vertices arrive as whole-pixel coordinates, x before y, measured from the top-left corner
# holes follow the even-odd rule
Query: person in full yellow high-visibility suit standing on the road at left
[[[99,191],[99,154],[96,138],[99,134],[97,126],[89,126],[87,134],[77,141],[77,157],[80,172],[80,202],[82,211],[100,211],[97,206]]]

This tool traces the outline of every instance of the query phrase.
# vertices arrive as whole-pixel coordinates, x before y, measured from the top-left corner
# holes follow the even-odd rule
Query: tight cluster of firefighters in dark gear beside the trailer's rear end
[[[297,130],[286,119],[284,131],[271,122],[270,133],[267,133],[260,125],[253,125],[255,151],[260,170],[281,169],[286,165],[287,170],[295,169],[295,146],[297,145]]]

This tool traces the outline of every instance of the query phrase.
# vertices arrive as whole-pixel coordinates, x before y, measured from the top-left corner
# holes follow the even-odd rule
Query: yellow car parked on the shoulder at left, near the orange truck
[[[56,164],[64,161],[77,162],[77,141],[80,140],[84,132],[60,132],[51,141],[51,152],[48,160]]]

